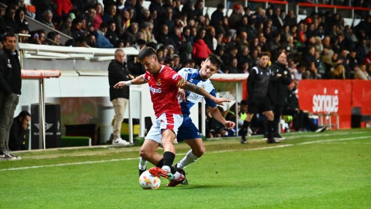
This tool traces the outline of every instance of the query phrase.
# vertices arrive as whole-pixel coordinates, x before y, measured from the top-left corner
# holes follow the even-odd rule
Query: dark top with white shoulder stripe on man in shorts
[[[249,98],[265,97],[268,91],[270,68],[265,68],[257,65],[250,70],[250,75],[247,78],[247,92]]]

